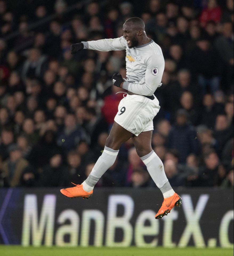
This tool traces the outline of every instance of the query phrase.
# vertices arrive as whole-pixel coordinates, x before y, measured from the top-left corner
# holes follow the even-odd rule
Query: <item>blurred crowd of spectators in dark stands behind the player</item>
[[[91,172],[123,95],[116,38],[138,16],[165,58],[152,146],[172,186],[233,186],[233,0],[0,0],[0,186],[70,186]],[[121,89],[122,91],[123,89]],[[155,186],[130,139],[97,186]]]

